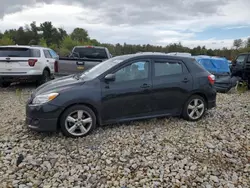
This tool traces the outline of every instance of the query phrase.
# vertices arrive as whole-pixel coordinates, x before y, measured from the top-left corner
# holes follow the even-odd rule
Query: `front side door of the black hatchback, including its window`
[[[149,60],[126,63],[111,73],[115,74],[115,81],[101,81],[103,121],[135,118],[152,111]]]

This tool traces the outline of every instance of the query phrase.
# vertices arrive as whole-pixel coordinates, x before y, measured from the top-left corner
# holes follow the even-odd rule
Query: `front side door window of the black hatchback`
[[[149,75],[149,62],[134,62],[115,72],[115,82],[146,79]]]

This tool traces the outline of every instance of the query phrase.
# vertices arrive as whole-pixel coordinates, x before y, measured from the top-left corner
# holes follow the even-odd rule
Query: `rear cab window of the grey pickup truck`
[[[103,48],[75,48],[74,53],[77,54],[77,56],[79,56],[80,58],[108,58],[106,50]]]

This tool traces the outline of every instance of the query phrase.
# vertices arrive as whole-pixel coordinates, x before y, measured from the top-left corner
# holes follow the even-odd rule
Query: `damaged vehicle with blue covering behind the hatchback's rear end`
[[[230,67],[226,58],[194,56],[207,71],[215,75],[214,87],[218,92],[228,92],[236,86],[237,79],[231,78]]]

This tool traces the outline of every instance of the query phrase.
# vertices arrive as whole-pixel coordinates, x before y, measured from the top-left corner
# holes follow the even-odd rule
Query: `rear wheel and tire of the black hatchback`
[[[200,108],[198,108],[199,106]],[[194,109],[192,110],[191,107]],[[207,110],[207,103],[205,99],[199,95],[193,95],[185,103],[182,111],[182,117],[188,121],[198,121],[204,116],[206,110]],[[194,111],[193,115],[192,111]],[[199,112],[199,114],[197,112]]]

